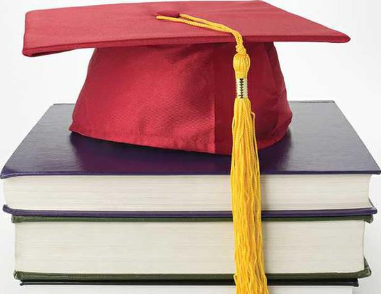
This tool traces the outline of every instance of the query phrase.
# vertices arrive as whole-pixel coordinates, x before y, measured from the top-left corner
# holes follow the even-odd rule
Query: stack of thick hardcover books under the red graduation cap
[[[287,136],[260,152],[270,293],[352,293],[371,274],[364,229],[380,169],[333,101],[291,108]],[[67,130],[72,111],[51,106],[1,172],[15,278],[235,293],[230,156],[85,138]]]

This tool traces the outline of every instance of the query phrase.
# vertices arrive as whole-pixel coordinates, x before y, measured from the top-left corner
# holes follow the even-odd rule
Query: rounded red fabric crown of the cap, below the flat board
[[[287,131],[291,111],[272,43],[246,44],[259,148]],[[96,49],[71,131],[137,145],[230,154],[234,44]]]

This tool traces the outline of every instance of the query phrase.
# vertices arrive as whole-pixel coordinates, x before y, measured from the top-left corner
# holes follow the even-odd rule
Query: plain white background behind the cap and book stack
[[[289,99],[334,99],[366,146],[381,163],[380,28],[377,0],[269,0],[350,35],[347,44],[278,43]],[[26,58],[22,56],[24,14],[28,10],[117,3],[108,0],[17,0],[0,2],[0,165],[53,103],[74,102],[85,79],[90,49]],[[381,178],[373,177],[371,198],[381,207]],[[3,204],[3,195],[0,195]],[[14,227],[0,213],[0,293],[125,293],[126,288],[19,287],[12,278]],[[368,225],[366,257],[373,276],[355,293],[380,293],[381,220]]]

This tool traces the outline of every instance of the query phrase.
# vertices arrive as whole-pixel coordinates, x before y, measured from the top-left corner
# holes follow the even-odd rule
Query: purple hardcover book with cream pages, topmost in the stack
[[[13,215],[79,217],[231,216],[230,156],[87,138],[68,131],[73,107],[73,104],[51,106],[4,166],[1,178],[6,179],[6,199],[8,204],[8,200],[13,201],[13,205],[4,206],[4,211]],[[291,101],[291,108],[294,120],[287,136],[260,152],[265,181],[263,217],[375,213],[367,189],[371,174],[379,174],[380,169],[335,102]],[[119,176],[123,179],[118,179]],[[150,182],[137,184],[137,178]],[[76,184],[71,182],[73,179]],[[92,189],[95,186],[96,190]],[[274,186],[277,188],[273,189]],[[70,191],[70,199],[62,194],[68,187],[77,187]],[[307,190],[301,193],[303,187]],[[146,195],[146,202],[142,202],[139,193],[145,193],[146,188],[155,192]],[[90,190],[83,196],[85,189]],[[115,191],[120,195],[115,196]],[[208,198],[210,195],[214,198]],[[102,200],[94,200],[96,197]],[[60,205],[55,206],[57,200]],[[314,203],[318,200],[326,202]],[[131,206],[134,201],[143,204]],[[210,204],[214,206],[209,207]]]

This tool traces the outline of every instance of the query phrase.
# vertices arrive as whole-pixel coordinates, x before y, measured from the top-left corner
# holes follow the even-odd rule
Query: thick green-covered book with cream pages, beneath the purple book
[[[267,277],[370,275],[363,236],[364,222],[371,220],[266,218]],[[16,251],[22,252],[16,258],[15,278],[22,281],[229,281],[234,272],[229,218],[14,216],[12,221]]]

